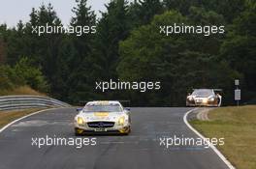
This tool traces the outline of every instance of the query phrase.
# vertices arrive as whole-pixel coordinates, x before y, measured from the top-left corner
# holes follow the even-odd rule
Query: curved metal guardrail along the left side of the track
[[[69,107],[70,104],[57,99],[40,96],[0,97],[0,111],[25,108]]]

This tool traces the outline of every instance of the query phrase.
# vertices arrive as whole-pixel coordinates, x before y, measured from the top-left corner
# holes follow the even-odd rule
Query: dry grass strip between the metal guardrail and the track
[[[42,109],[39,108],[32,108],[32,109],[26,109],[22,111],[3,111],[0,112],[0,128],[8,125],[9,123],[15,121],[18,118],[21,118],[23,116],[26,116],[28,114],[34,113],[36,111],[39,111]]]

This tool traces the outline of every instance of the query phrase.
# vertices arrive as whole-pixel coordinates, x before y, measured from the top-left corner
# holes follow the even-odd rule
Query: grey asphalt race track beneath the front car
[[[32,146],[32,137],[74,137],[74,108],[48,110],[0,133],[0,169],[226,169],[211,149],[160,146],[160,137],[197,137],[183,122],[189,108],[132,108],[129,136],[98,135],[96,146]]]

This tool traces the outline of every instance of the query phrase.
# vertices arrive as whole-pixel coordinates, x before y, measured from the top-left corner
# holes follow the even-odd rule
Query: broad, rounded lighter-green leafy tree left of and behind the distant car
[[[121,61],[117,70],[121,79],[161,81],[161,91],[143,97],[145,102],[153,105],[158,102],[162,106],[184,104],[184,96],[192,88],[230,87],[229,82],[240,74],[218,60],[221,36],[183,34],[166,37],[158,30],[158,25],[174,23],[220,24],[221,18],[221,15],[198,8],[193,9],[189,17],[176,11],[156,15],[150,24],[134,30],[128,40],[120,43]]]

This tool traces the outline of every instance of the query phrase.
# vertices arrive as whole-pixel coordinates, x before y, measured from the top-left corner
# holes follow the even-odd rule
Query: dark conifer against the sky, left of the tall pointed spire
[[[29,61],[42,68],[46,75],[47,81],[50,82],[50,91],[54,91],[57,86],[58,78],[56,78],[57,70],[61,69],[62,65],[58,61],[58,53],[60,51],[60,44],[63,39],[63,34],[45,33],[39,36],[32,33],[33,26],[48,26],[57,27],[62,26],[60,19],[55,13],[51,4],[45,6],[44,4],[39,10],[32,9],[30,14],[30,21],[24,28],[25,38],[24,43],[27,51],[21,56],[29,56]],[[29,47],[28,47],[29,46]]]

